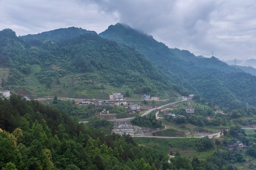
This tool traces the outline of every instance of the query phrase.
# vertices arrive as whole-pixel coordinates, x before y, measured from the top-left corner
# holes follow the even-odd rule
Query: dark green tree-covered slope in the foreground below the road
[[[12,95],[10,99],[0,98],[0,169],[236,169],[229,163],[229,158],[220,156],[220,152],[207,160],[191,159],[177,152],[168,162],[167,153],[161,148],[138,145],[130,135],[106,135],[95,125],[93,121],[79,124],[66,113],[34,100],[23,100],[18,95]],[[99,128],[99,124],[97,126]],[[187,140],[191,140],[190,146],[198,145],[204,150],[214,147],[208,137]]]

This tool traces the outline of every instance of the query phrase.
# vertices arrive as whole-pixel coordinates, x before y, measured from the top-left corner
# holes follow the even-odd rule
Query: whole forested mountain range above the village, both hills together
[[[101,93],[109,85],[125,86],[137,95],[162,96],[170,90],[185,96],[194,93],[229,108],[256,103],[255,76],[216,57],[169,49],[119,23],[99,35],[71,27],[17,37],[4,29],[0,31],[0,66],[10,72],[1,79],[2,87],[13,86],[15,91],[15,86],[27,87],[26,91],[41,95],[50,91],[53,96],[77,97],[85,95],[85,89]],[[35,87],[29,89],[31,83]]]

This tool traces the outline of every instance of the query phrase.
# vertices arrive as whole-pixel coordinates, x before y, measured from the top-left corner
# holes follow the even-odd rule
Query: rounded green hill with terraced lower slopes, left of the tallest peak
[[[4,86],[30,86],[27,77],[33,74],[40,86],[49,89],[67,75],[77,75],[72,83],[81,86],[86,82],[125,85],[135,94],[159,95],[171,89],[169,81],[136,49],[74,27],[22,37],[10,29],[0,31],[0,66],[10,68]]]

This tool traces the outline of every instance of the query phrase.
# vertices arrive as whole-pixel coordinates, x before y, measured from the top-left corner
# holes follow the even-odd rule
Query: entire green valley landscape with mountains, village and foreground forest
[[[256,77],[245,70],[120,23],[4,29],[0,168],[255,169]]]

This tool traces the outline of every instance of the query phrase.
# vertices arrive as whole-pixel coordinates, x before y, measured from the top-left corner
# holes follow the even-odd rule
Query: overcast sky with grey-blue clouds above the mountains
[[[70,26],[101,33],[117,22],[170,48],[220,60],[256,59],[254,0],[0,0],[0,30],[36,34]]]

